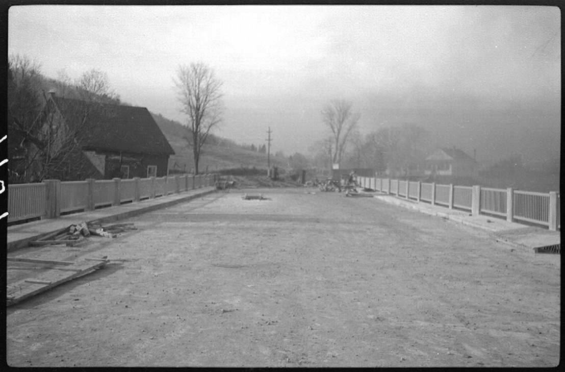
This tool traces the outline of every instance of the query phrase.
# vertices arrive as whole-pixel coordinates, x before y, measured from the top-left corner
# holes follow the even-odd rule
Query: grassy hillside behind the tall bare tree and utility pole
[[[161,115],[153,115],[155,122],[167,137],[175,155],[169,158],[169,169],[190,171],[194,167],[192,148],[182,138],[186,133],[186,127],[173,120],[163,118]],[[210,135],[202,149],[199,172],[229,169],[229,168],[259,168],[267,169],[267,154],[254,152],[242,148],[235,142]],[[277,158],[271,154],[271,167],[279,167],[281,170],[288,167],[286,158]]]

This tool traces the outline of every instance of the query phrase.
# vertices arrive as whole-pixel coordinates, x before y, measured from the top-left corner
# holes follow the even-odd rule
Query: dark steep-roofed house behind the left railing
[[[51,94],[41,115],[44,132],[56,130],[53,154],[64,139],[77,146],[58,179],[147,178],[167,175],[175,152],[145,107],[88,102]]]

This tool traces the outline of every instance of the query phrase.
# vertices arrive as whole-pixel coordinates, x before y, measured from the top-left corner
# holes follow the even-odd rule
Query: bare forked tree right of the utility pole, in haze
[[[349,133],[355,128],[360,114],[353,112],[353,103],[333,100],[321,111],[322,121],[332,131],[332,162],[340,163],[345,154]]]

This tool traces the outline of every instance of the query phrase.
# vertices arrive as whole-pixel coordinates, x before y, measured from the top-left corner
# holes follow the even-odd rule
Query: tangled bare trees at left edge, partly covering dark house
[[[93,176],[95,171],[82,153],[80,141],[87,120],[102,120],[104,106],[68,100],[72,102],[68,107],[58,107],[64,109],[62,118],[55,102],[45,96],[46,86],[53,81],[41,75],[39,64],[20,55],[12,55],[8,63],[10,183]],[[98,118],[93,110],[99,111]]]

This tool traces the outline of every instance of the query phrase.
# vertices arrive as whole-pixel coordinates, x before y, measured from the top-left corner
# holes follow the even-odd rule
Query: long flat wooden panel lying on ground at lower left
[[[28,297],[45,292],[47,289],[56,287],[59,284],[68,282],[79,276],[89,274],[99,267],[106,265],[107,262],[109,262],[109,260],[77,262],[72,266],[64,267],[65,270],[58,270],[58,268],[54,267],[54,270],[48,270],[42,274],[41,278],[28,278],[14,284],[9,284],[6,288],[6,306],[17,304]],[[70,274],[71,270],[73,271],[72,274]]]

